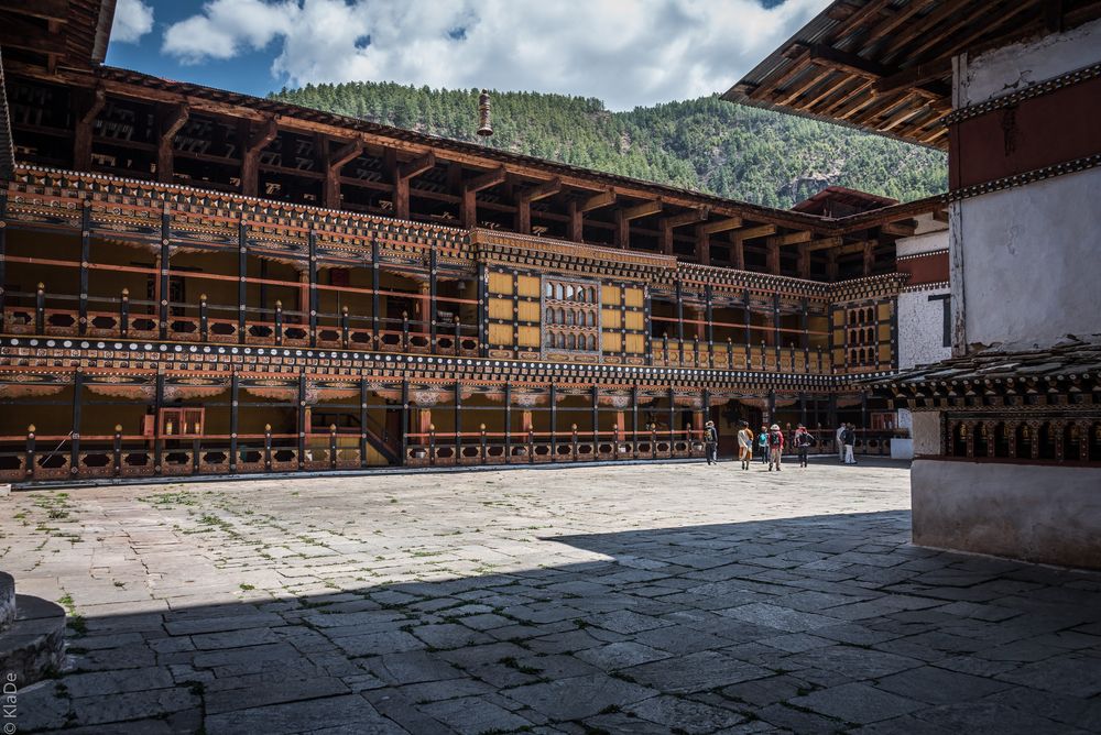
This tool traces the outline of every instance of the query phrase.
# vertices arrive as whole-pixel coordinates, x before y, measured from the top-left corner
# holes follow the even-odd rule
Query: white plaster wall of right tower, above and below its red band
[[[1101,21],[961,59],[958,107],[1101,62]],[[1057,131],[1053,131],[1057,134]],[[953,205],[953,308],[962,348],[1048,345],[1101,332],[1101,168]]]

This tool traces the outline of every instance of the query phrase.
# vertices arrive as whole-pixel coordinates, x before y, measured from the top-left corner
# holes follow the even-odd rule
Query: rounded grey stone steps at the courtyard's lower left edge
[[[62,668],[65,611],[57,604],[15,594],[15,580],[0,572],[0,676],[15,674],[19,689]]]

